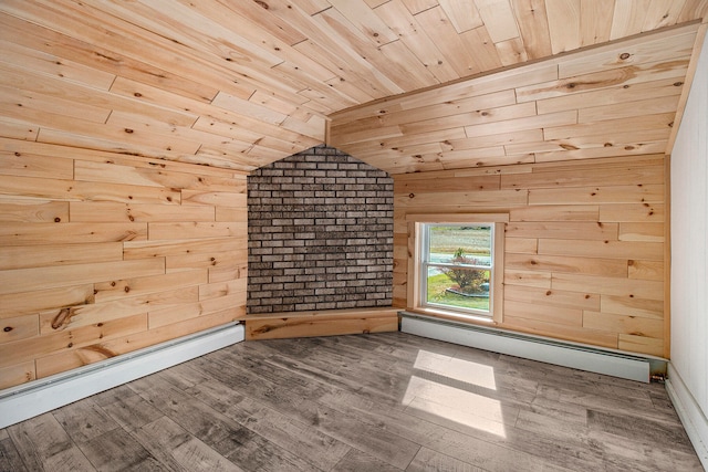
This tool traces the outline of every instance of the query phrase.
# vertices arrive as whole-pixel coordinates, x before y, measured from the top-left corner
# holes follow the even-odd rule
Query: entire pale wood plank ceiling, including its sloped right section
[[[664,153],[707,11],[2,0],[0,137],[243,171],[325,140],[392,174]]]

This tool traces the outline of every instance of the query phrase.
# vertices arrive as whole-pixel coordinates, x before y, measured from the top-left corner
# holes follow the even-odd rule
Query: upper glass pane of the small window
[[[430,225],[429,262],[491,266],[490,225]]]

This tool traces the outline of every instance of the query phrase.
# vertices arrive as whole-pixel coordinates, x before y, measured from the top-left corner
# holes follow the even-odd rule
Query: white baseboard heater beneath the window
[[[666,374],[666,359],[637,356],[584,344],[399,312],[400,331],[531,360],[649,382]]]

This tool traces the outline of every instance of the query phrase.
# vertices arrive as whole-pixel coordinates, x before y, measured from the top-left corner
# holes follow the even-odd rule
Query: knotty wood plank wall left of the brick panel
[[[246,175],[0,139],[0,388],[241,318]]]

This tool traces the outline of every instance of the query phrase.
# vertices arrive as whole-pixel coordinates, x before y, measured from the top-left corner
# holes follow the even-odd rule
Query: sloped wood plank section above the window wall
[[[697,28],[345,109],[327,144],[389,174],[665,153]]]

